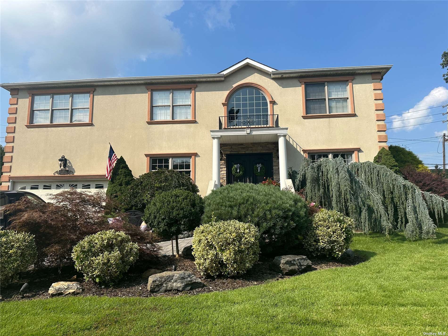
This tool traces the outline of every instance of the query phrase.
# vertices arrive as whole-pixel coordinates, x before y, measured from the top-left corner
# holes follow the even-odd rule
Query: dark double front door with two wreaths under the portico
[[[244,174],[240,177],[235,177],[232,174],[232,167],[235,164],[240,164],[244,167]],[[257,164],[263,164],[266,172],[263,176],[257,176],[254,173],[254,167]],[[274,177],[272,168],[272,153],[252,153],[252,154],[227,154],[227,184],[234,182],[244,183],[261,183],[265,177]]]

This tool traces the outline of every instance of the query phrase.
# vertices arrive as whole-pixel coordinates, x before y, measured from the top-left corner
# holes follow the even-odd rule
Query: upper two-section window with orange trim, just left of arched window
[[[191,86],[147,86],[148,124],[194,122],[194,88]]]

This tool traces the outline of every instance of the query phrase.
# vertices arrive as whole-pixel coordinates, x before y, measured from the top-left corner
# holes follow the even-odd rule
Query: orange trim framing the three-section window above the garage
[[[28,91],[28,115],[26,116],[26,127],[27,128],[42,128],[42,127],[69,127],[69,126],[91,126],[92,125],[92,115],[93,115],[93,91],[95,88],[83,88],[83,89],[60,89],[60,90],[31,90]],[[86,93],[90,92],[89,101],[89,121],[88,122],[67,122],[67,123],[56,123],[56,124],[31,124],[31,110],[33,95],[52,95],[58,93]],[[71,108],[71,107],[70,107]],[[50,111],[52,106],[50,106]],[[72,108],[73,110],[73,108]]]

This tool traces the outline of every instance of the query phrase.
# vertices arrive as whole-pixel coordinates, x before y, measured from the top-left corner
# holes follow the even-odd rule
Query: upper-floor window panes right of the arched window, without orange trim
[[[349,113],[348,82],[306,83],[306,114]]]

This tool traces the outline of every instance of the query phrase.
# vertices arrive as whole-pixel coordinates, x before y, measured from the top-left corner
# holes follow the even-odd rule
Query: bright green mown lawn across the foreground
[[[369,258],[234,291],[3,302],[6,335],[448,335],[448,228],[437,239],[357,235]]]

